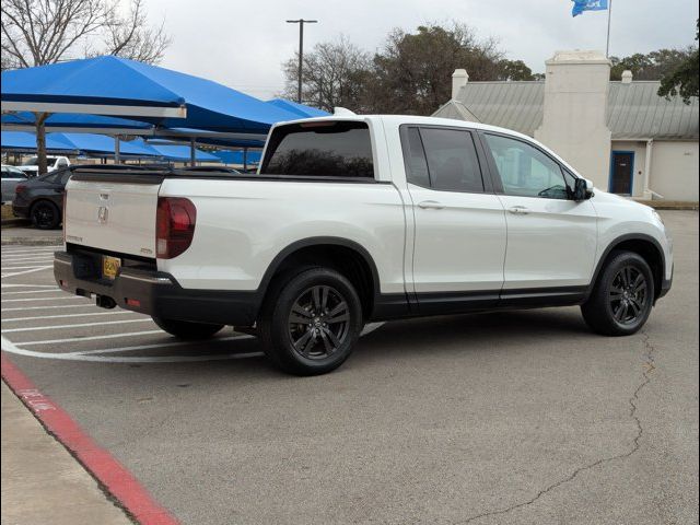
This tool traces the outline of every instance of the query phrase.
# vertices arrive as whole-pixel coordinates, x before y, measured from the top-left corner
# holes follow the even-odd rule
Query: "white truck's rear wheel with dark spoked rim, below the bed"
[[[362,329],[352,283],[329,268],[285,275],[272,285],[259,319],[265,353],[282,371],[318,375],[340,366]]]

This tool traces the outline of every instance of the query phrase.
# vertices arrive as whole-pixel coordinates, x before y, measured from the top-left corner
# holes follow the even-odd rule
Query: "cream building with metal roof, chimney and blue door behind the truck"
[[[469,82],[433,116],[510,128],[545,143],[599,188],[640,199],[698,200],[698,100],[658,96],[626,71],[611,82],[599,51],[558,51],[546,80]]]

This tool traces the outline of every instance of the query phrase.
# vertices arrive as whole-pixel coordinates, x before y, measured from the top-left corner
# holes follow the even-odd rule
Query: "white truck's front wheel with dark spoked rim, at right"
[[[614,252],[581,312],[597,334],[630,336],[646,323],[654,296],[646,261],[633,252]]]

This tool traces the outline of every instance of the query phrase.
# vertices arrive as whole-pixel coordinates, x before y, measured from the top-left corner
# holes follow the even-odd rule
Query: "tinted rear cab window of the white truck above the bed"
[[[270,137],[260,174],[374,178],[370,129],[348,121],[281,126]]]

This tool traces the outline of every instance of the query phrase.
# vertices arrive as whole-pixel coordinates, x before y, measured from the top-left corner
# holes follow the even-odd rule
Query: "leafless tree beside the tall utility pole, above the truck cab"
[[[299,75],[299,55],[282,65],[283,96],[294,100]],[[305,103],[332,112],[336,106],[361,109],[363,78],[370,69],[370,56],[345,36],[336,42],[316,44],[304,55],[302,98]]]

